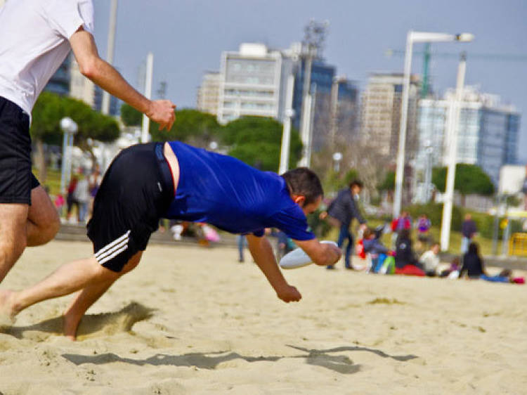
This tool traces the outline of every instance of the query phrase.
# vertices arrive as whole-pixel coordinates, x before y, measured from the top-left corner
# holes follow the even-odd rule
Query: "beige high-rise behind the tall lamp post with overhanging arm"
[[[420,80],[410,77],[408,127],[405,157],[410,159],[417,149],[417,100]],[[373,73],[362,94],[360,108],[360,139],[379,155],[396,159],[401,122],[403,74]]]

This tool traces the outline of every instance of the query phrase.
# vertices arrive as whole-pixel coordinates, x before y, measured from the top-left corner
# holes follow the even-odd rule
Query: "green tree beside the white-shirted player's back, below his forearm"
[[[90,150],[88,138],[109,142],[119,137],[119,124],[112,117],[102,115],[92,110],[82,101],[55,93],[42,92],[35,103],[30,134],[37,147],[35,162],[39,169],[39,179],[46,181],[46,161],[44,143],[60,145],[63,141],[63,131],[60,129],[60,119],[70,117],[79,127],[74,138],[75,145],[84,150]],[[92,154],[93,155],[93,154]]]

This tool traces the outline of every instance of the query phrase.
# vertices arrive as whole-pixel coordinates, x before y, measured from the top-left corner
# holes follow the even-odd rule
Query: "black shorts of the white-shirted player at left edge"
[[[31,205],[39,181],[31,172],[30,116],[0,97],[0,203]]]

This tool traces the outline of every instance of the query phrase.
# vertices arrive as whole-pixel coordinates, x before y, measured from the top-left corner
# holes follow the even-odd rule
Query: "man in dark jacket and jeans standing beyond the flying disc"
[[[344,254],[344,266],[347,269],[353,269],[351,266],[351,252],[353,252],[353,235],[349,231],[351,221],[354,218],[360,223],[360,229],[365,230],[366,221],[358,209],[358,197],[360,191],[363,189],[363,183],[354,180],[349,184],[349,188],[339,190],[337,197],[331,202],[327,212],[321,214],[321,218],[328,217],[328,221],[333,226],[339,228],[339,240],[337,245],[339,248],[344,246],[347,240],[346,253]],[[334,269],[334,265],[327,266],[328,269]]]

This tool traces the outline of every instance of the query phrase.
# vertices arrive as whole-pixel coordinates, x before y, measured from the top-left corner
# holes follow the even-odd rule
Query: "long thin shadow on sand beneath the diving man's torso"
[[[100,365],[103,363],[122,362],[130,363],[132,365],[171,365],[171,366],[196,366],[202,369],[216,369],[220,363],[233,361],[235,359],[242,359],[249,363],[268,361],[275,362],[280,359],[305,359],[308,365],[321,366],[333,370],[334,372],[341,373],[343,375],[350,375],[360,371],[361,366],[359,364],[353,364],[353,361],[348,356],[342,355],[330,355],[331,353],[337,353],[342,351],[369,351],[382,358],[393,358],[396,361],[409,361],[410,359],[417,358],[414,355],[407,356],[391,356],[377,349],[368,349],[367,347],[337,347],[334,349],[305,349],[303,347],[296,347],[288,345],[293,349],[303,351],[306,354],[300,354],[297,356],[243,356],[232,351],[216,351],[211,353],[189,353],[182,355],[167,355],[167,354],[155,354],[145,359],[134,359],[134,358],[122,358],[117,354],[100,354],[100,355],[79,355],[79,354],[63,354],[62,356],[68,361],[75,365],[82,365],[84,363],[94,363]]]

